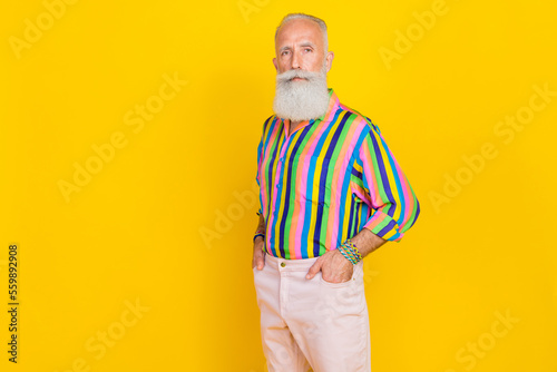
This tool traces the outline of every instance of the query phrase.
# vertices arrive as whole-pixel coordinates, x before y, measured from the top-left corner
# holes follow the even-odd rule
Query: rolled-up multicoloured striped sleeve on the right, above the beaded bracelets
[[[356,156],[352,182],[370,207],[364,228],[387,241],[399,242],[420,214],[420,205],[379,129],[370,123]]]

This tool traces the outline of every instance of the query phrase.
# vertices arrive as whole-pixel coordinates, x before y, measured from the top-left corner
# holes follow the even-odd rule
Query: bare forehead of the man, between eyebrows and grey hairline
[[[323,31],[319,25],[310,19],[293,19],[278,29],[275,47],[281,48],[286,45],[312,42],[317,47],[323,47]]]

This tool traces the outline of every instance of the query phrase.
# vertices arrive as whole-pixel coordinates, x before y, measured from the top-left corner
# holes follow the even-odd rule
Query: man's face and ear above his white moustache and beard
[[[292,69],[320,72],[323,63],[326,63],[329,71],[333,60],[333,53],[325,50],[323,31],[309,19],[293,19],[283,25],[276,36],[275,52],[273,63],[277,74]],[[293,79],[302,80],[304,79]]]

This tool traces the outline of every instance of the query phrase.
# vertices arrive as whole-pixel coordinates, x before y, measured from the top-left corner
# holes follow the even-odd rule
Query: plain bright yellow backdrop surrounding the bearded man
[[[508,144],[495,130],[534,86],[557,90],[557,2],[447,0],[420,35],[413,12],[434,3],[80,0],[18,59],[11,37],[25,40],[26,19],[49,26],[47,10],[3,2],[1,370],[265,370],[251,196],[274,29],[304,11],[328,22],[330,87],[379,125],[422,207],[400,244],[365,258],[373,371],[556,372],[557,97]],[[409,28],[416,41],[389,69],[379,50],[395,51]],[[134,131],[126,112],[175,74],[187,84]],[[115,133],[126,145],[66,203],[60,179],[72,183],[75,163]],[[497,156],[436,207],[432,193],[486,143]],[[17,365],[6,352],[11,243]],[[123,329],[136,301],[148,310]],[[501,337],[497,314],[516,321]],[[118,340],[98,358],[87,342],[109,330]],[[489,340],[473,366],[462,361],[473,355],[462,347]]]

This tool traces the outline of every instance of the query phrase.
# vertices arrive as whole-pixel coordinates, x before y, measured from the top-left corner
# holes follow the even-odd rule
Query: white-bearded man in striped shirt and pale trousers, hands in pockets
[[[371,370],[361,260],[419,214],[379,128],[328,88],[328,50],[319,18],[289,14],[276,29],[252,262],[270,371]]]

